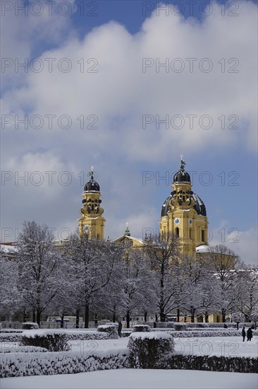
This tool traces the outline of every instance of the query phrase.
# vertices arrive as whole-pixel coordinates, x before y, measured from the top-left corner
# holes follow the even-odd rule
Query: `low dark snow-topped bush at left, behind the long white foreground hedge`
[[[20,343],[23,346],[43,347],[50,352],[68,351],[70,348],[67,344],[66,333],[59,330],[42,331],[30,336],[30,331],[23,332]]]

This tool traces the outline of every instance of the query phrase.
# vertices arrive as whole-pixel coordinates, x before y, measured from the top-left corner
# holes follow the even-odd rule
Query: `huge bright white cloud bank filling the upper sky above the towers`
[[[214,4],[214,13],[202,24],[192,19],[168,18],[165,14],[152,15],[135,35],[130,35],[118,23],[107,23],[94,28],[82,41],[73,36],[66,45],[44,52],[41,56],[44,70],[25,75],[27,86],[7,95],[6,105],[11,112],[23,106],[30,107],[31,115],[70,115],[73,134],[65,134],[67,141],[70,136],[76,141],[74,133],[79,127],[77,118],[80,115],[86,118],[97,115],[98,134],[87,136],[87,141],[101,149],[116,144],[114,127],[120,120],[123,141],[119,141],[119,151],[135,160],[167,158],[175,138],[178,147],[189,152],[193,147],[205,149],[211,143],[227,147],[239,142],[253,151],[257,139],[255,10],[256,6],[247,2],[242,4],[238,18],[226,18],[221,16],[221,8]],[[55,59],[52,73],[45,60],[49,57]],[[142,59],[146,57],[161,63],[167,58],[169,64],[180,58],[185,70],[166,73],[161,67],[157,73],[153,65],[142,73]],[[57,69],[63,58],[68,58],[72,66],[68,73]],[[97,59],[95,67],[94,60],[87,64],[90,58]],[[187,58],[197,59],[192,73],[188,70]],[[199,70],[204,58],[209,58],[212,64],[209,73]],[[228,64],[232,58],[235,59]],[[82,59],[83,73],[80,72]],[[218,63],[220,59],[225,59],[224,73],[221,72],[222,64]],[[204,67],[208,65],[203,62]],[[228,73],[234,65],[238,73]],[[66,66],[65,62],[63,66]],[[87,72],[90,66],[97,73]],[[142,129],[142,115],[160,115],[161,120],[168,115],[170,128],[165,129],[161,124],[156,130],[154,124],[147,124],[147,128]],[[171,127],[174,115],[183,116],[183,129]],[[197,115],[192,129],[189,128],[190,118],[185,115]],[[199,127],[202,115],[211,116],[213,125],[210,129]],[[226,129],[221,129],[221,115],[226,116]],[[228,120],[230,115],[235,117]],[[238,126],[245,123],[242,132],[227,129],[235,118],[239,118]],[[90,124],[90,120],[86,124]],[[209,122],[204,119],[202,124],[205,127]],[[176,127],[178,125],[179,121]],[[150,147],[152,153],[149,153]]]

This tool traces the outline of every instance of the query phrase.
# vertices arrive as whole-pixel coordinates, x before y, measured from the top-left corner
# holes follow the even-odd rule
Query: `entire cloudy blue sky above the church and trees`
[[[158,228],[180,154],[210,244],[257,263],[257,2],[1,2],[1,240],[65,238],[94,166],[105,235]]]

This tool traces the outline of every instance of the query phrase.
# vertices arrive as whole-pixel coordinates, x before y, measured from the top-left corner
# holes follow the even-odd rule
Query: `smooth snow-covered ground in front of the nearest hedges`
[[[3,378],[1,389],[256,389],[257,374],[123,368],[60,376]]]

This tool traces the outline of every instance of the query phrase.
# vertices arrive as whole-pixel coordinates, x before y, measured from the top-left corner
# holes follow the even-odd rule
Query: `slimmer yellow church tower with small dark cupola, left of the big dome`
[[[104,224],[106,219],[102,216],[104,209],[100,207],[102,196],[100,193],[99,184],[94,180],[94,170],[91,167],[90,181],[85,184],[84,191],[82,192],[82,208],[80,214],[82,215],[78,219],[79,234],[83,236],[88,234],[89,239],[92,240],[104,240]]]

